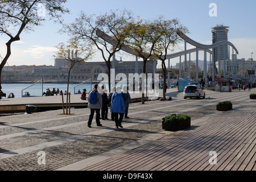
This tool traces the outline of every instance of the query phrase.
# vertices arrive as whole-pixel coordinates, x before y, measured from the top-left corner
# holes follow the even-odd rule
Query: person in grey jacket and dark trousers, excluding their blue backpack
[[[98,84],[95,84],[94,85],[94,89],[90,91],[89,93],[89,100],[90,100],[90,94],[94,91],[97,93],[97,103],[96,104],[91,104],[90,101],[89,101],[89,104],[88,104],[88,108],[91,109],[91,114],[89,116],[89,121],[88,121],[88,127],[91,127],[91,122],[93,121],[93,115],[94,115],[94,112],[96,112],[96,123],[97,123],[97,126],[102,126],[101,125],[101,122],[99,121],[99,118],[101,117],[100,115],[100,111],[101,111],[101,108],[102,108],[102,96],[100,93],[98,93]]]

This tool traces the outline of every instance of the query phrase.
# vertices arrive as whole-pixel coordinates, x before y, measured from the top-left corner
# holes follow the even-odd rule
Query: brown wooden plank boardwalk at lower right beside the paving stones
[[[255,171],[255,112],[255,101],[248,101],[83,170]]]

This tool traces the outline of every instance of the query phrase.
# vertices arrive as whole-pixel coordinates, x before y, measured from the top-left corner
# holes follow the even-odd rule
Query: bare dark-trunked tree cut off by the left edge
[[[20,40],[21,33],[33,31],[34,26],[40,26],[45,19],[46,12],[51,18],[61,20],[61,15],[68,12],[63,7],[66,0],[7,0],[0,1],[0,34],[7,35],[7,52],[0,64],[1,72],[11,55],[11,43]]]

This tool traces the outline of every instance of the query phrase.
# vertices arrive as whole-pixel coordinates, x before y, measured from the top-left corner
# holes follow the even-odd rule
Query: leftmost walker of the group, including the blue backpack
[[[97,126],[102,126],[99,121],[100,118],[100,110],[102,109],[102,96],[98,93],[98,84],[94,84],[94,89],[90,91],[88,97],[88,108],[90,108],[91,113],[89,116],[89,121],[87,122],[88,127],[91,127],[91,122],[93,121],[94,112],[96,112],[96,123]]]

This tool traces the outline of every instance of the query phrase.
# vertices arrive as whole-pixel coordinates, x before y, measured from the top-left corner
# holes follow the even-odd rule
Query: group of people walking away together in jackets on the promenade
[[[119,86],[113,87],[109,96],[107,96],[107,89],[104,86],[98,90],[98,84],[94,85],[94,89],[89,92],[88,96],[88,108],[90,108],[88,127],[91,127],[94,113],[96,113],[97,126],[102,126],[100,119],[105,120],[107,118],[109,106],[111,112],[111,120],[115,121],[115,128],[123,127],[123,117],[128,117],[128,108],[131,104],[131,97],[127,91],[127,86],[123,86],[123,92]],[[101,111],[101,113],[100,113]],[[101,114],[101,117],[100,117]]]

